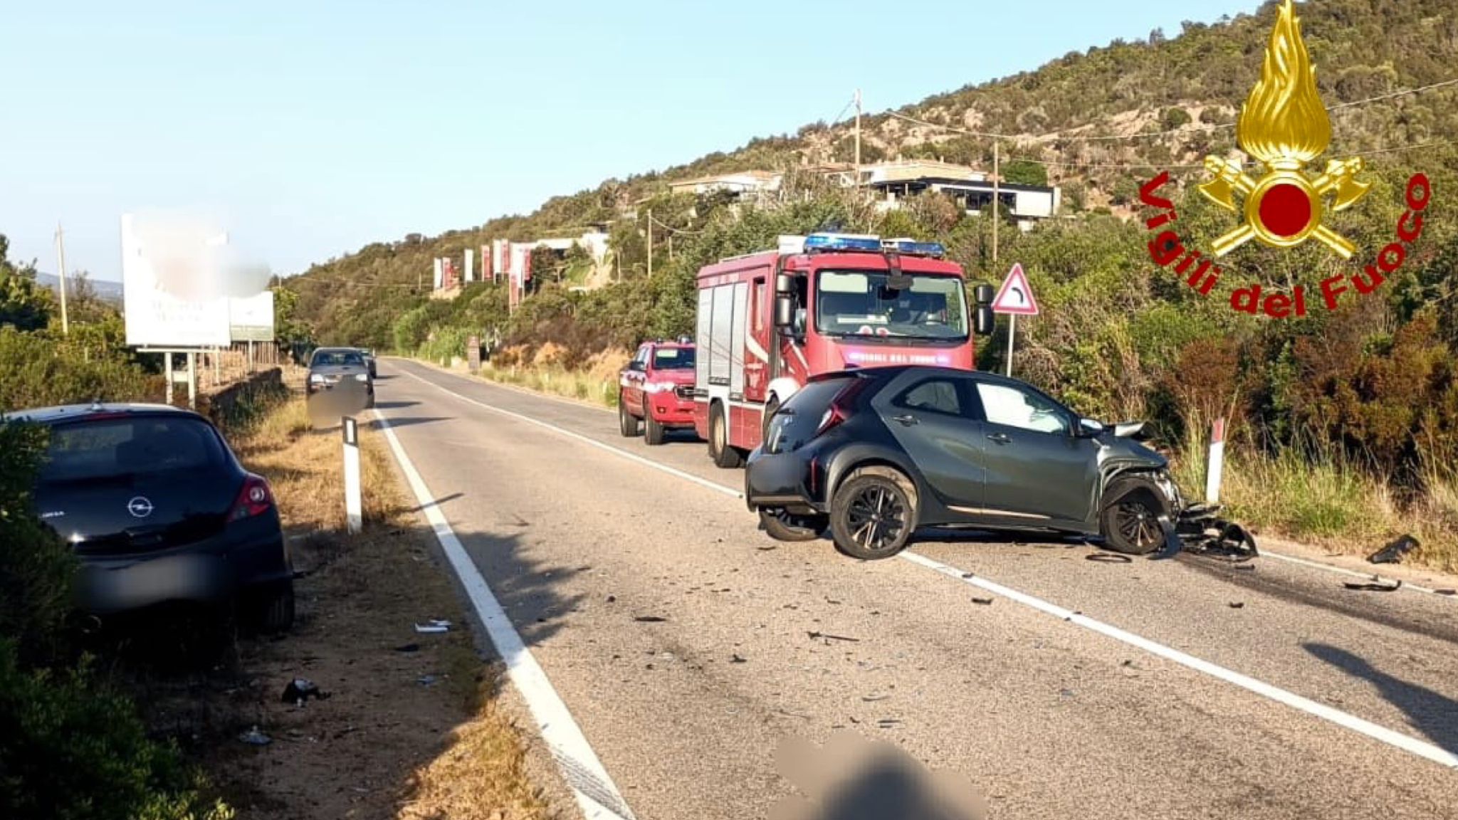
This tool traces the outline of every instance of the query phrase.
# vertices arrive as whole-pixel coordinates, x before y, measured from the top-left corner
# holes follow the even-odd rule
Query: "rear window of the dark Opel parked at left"
[[[184,416],[127,416],[55,425],[47,455],[41,468],[44,483],[207,470],[223,465],[227,458],[210,426]]]

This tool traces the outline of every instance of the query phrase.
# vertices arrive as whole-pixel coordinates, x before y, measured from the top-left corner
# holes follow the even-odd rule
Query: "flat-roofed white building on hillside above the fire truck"
[[[856,169],[849,165],[819,168],[831,179],[850,187],[856,181]],[[935,191],[952,197],[967,213],[980,214],[993,204],[993,181],[990,175],[951,162],[932,159],[895,159],[860,166],[860,184],[876,196],[876,207],[895,210],[901,200]],[[1003,213],[1018,220],[1024,231],[1032,229],[1041,219],[1053,219],[1061,207],[1061,191],[1056,187],[997,184],[997,200]]]

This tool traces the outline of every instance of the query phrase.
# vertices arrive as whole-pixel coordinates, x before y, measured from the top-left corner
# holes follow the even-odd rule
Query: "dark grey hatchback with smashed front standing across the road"
[[[930,366],[850,369],[809,381],[749,455],[745,502],[774,538],[827,528],[843,553],[884,559],[921,527],[1102,535],[1112,550],[1165,544],[1184,502],[1166,460],[1025,382]]]

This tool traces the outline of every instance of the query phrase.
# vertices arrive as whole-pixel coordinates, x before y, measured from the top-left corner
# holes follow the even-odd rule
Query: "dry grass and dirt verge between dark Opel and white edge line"
[[[362,425],[364,530],[344,527],[338,430],[312,432],[302,398],[235,436],[268,477],[295,534],[299,623],[284,641],[248,642],[249,683],[230,699],[267,747],[233,727],[207,756],[239,819],[535,820],[548,817],[525,744],[499,708],[502,671],[477,654],[436,544],[405,500],[383,433]],[[446,635],[413,623],[440,617]],[[416,645],[414,651],[401,646]],[[328,700],[280,703],[295,676]],[[423,676],[434,678],[423,684]]]

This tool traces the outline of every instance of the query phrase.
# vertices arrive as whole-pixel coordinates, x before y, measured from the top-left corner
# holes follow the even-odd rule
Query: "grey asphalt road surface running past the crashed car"
[[[381,374],[379,413],[642,820],[765,817],[780,740],[837,728],[965,772],[991,817],[1458,817],[1458,600],[964,535],[854,562],[770,541],[700,442]]]

